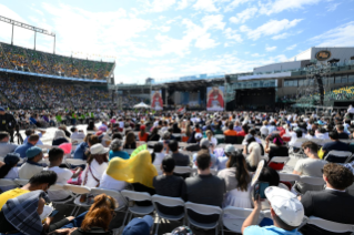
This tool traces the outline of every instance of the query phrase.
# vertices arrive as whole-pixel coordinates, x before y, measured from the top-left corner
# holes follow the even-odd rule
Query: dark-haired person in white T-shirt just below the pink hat
[[[73,171],[75,173],[72,173],[69,168],[62,168],[59,167],[62,163],[62,160],[64,159],[64,151],[60,147],[53,147],[49,151],[49,166],[44,168],[44,171],[53,171],[57,173],[57,184],[67,184],[70,178],[77,178],[82,168],[77,167]],[[52,201],[61,201],[70,197],[70,191],[49,191],[48,196]]]

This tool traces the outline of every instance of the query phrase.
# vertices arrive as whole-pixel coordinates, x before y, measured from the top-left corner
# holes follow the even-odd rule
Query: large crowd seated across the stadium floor
[[[18,119],[36,117],[37,126],[52,121],[58,127],[51,146],[41,143],[43,130],[26,130],[21,145],[9,143],[7,132],[0,133],[0,178],[29,180],[20,188],[1,187],[0,204],[4,206],[0,216],[6,218],[0,219],[1,233],[31,234],[23,232],[24,225],[30,226],[27,221],[18,219],[23,213],[17,219],[11,213],[24,204],[39,203],[40,208],[44,201],[74,198],[80,198],[80,204],[74,202],[77,206],[84,203],[90,210],[57,223],[49,217],[36,224],[36,229],[65,234],[94,234],[98,229],[109,234],[117,207],[132,214],[140,208],[145,212],[140,215],[160,218],[185,216],[191,226],[178,228],[185,231],[209,227],[218,233],[223,227],[246,235],[316,235],[336,234],[331,223],[337,227],[354,225],[352,106],[341,113],[312,114],[285,110],[184,114],[95,110],[83,114],[85,130],[74,125],[68,130],[59,120],[48,119],[51,114],[45,112],[13,114]],[[71,113],[62,115],[70,117]],[[43,147],[48,154],[43,154]],[[51,188],[53,184],[64,187]],[[75,191],[71,184],[84,186],[90,193],[80,191],[72,197]],[[93,193],[102,192],[97,188],[121,194],[111,197]],[[43,191],[48,191],[48,198]],[[180,204],[171,207],[172,201],[163,198],[176,198]],[[213,213],[208,213],[210,210]],[[42,211],[37,212],[31,221],[39,221]],[[92,219],[93,215],[107,218],[105,223]],[[310,223],[313,216],[322,223]],[[136,219],[144,226],[138,226]],[[151,219],[130,221],[123,234],[150,234]],[[7,222],[11,222],[10,228]],[[345,232],[353,231],[346,227],[343,234],[350,234]]]

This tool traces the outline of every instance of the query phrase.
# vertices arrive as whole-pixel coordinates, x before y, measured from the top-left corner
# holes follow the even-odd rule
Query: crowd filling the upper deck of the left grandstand
[[[93,80],[108,78],[113,68],[113,63],[62,57],[7,43],[0,44],[0,68],[3,69]]]

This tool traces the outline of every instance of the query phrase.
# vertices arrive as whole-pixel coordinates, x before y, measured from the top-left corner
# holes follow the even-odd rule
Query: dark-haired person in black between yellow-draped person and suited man
[[[153,186],[156,194],[161,196],[184,198],[185,183],[183,177],[173,175],[174,165],[174,160],[172,157],[163,159],[160,166],[163,174],[153,178]],[[183,213],[182,206],[165,207],[158,204],[158,207],[162,213],[168,215],[180,215]]]

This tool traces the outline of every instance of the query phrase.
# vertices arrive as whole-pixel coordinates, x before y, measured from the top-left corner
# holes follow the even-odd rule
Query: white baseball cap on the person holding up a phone
[[[304,206],[296,195],[276,186],[264,191],[275,214],[287,225],[297,227],[304,218]]]

